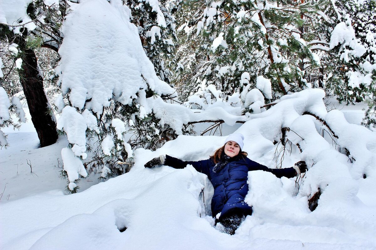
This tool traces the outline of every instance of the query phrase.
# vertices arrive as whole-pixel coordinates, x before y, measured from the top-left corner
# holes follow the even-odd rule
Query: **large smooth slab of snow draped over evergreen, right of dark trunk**
[[[61,65],[56,72],[63,94],[70,90],[69,99],[76,108],[101,114],[112,98],[130,104],[146,84],[157,94],[174,93],[156,76],[136,26],[122,18],[123,7],[119,5],[105,0],[82,1],[72,7],[64,21]]]

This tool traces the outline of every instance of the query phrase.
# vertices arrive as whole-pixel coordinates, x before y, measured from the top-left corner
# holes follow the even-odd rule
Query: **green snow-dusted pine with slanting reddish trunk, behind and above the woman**
[[[184,11],[189,2],[183,2],[176,12],[185,15],[178,18],[178,31],[186,33],[178,51],[177,84],[185,97],[202,84],[232,94],[257,87],[263,76],[272,86],[272,93],[260,89],[265,100],[311,87],[305,68],[317,68],[318,57],[307,45],[312,34],[303,27],[311,25],[324,3],[207,1],[191,13]]]

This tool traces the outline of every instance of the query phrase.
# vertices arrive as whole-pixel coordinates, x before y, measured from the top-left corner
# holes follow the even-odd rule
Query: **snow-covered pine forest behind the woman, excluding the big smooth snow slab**
[[[98,83],[79,82],[85,74],[69,75],[65,63],[73,57],[64,50],[64,40],[70,39],[65,21],[78,2],[17,0],[17,8],[12,4],[2,1],[0,126],[17,128],[25,121],[21,102],[26,100],[41,147],[67,134],[70,150],[62,171],[66,177],[70,171],[85,177],[94,169],[103,180],[123,174],[136,148],[155,150],[177,135],[193,134],[195,123],[212,122],[205,132],[224,123],[223,115],[217,115],[191,117],[176,126],[161,115],[166,109],[158,111],[157,104],[147,101],[150,97],[201,110],[221,102],[240,107],[233,115],[248,117],[284,95],[322,88],[326,98],[346,105],[366,102],[362,124],[374,130],[374,0],[122,1],[158,79],[142,70],[142,79],[124,72],[123,82],[100,83],[109,86],[105,90]],[[120,87],[130,85],[128,91]],[[55,114],[61,120],[56,122]],[[80,126],[83,119],[86,127]],[[0,145],[9,145],[1,131]],[[83,164],[70,169],[65,162],[75,157]],[[119,165],[119,160],[127,164]],[[68,178],[70,192],[76,192],[78,180],[77,174]]]

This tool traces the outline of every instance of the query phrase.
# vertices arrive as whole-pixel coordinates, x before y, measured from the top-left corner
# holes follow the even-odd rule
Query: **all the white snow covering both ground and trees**
[[[4,1],[0,3],[3,20]],[[163,27],[158,1],[148,3],[160,15],[157,28]],[[220,4],[213,2],[205,9],[206,21],[214,20]],[[57,73],[63,94],[70,91],[69,98],[64,98],[73,106],[65,106],[61,95],[55,101],[62,111],[57,126],[64,130],[67,140],[61,136],[56,144],[38,148],[28,108],[22,108],[17,97],[11,103],[27,123],[19,132],[9,127],[0,130],[1,145],[3,132],[8,133],[10,145],[0,149],[0,249],[376,249],[376,134],[358,125],[362,113],[359,106],[328,112],[324,91],[306,89],[281,97],[265,110],[261,106],[264,96],[271,95],[270,80],[259,76],[256,88],[251,89],[249,73],[244,70],[241,81],[247,85],[241,94],[228,99],[206,82],[185,105],[166,103],[159,96],[146,98],[145,91],[140,90],[146,84],[159,94],[174,90],[158,79],[147,60],[137,29],[129,23],[129,9],[116,0],[83,0],[72,5],[73,12],[64,22],[65,38],[59,51],[62,61]],[[252,20],[259,23],[257,13],[253,14]],[[238,15],[242,18],[246,13],[240,11]],[[352,31],[347,29],[346,33],[344,29],[347,26],[339,26],[332,34],[333,44],[337,39],[336,45],[348,43],[345,46],[352,49],[345,53],[361,54]],[[223,43],[223,35],[222,40],[217,37],[213,42],[215,49]],[[284,60],[278,50],[272,49],[280,56],[277,60]],[[215,70],[224,75],[230,67]],[[363,67],[369,72],[374,66]],[[356,73],[349,79],[354,85],[369,82],[368,75]],[[179,135],[156,151],[133,151],[123,142],[128,158],[134,162],[130,172],[104,183],[91,180],[94,174],[88,173],[79,158],[91,158],[86,152],[86,131],[99,132],[95,115],[102,114],[109,102],[127,104],[133,97],[138,98],[140,117],[153,111],[162,126],[168,124],[178,134],[188,122],[221,119],[225,122],[223,136]],[[9,115],[11,103],[0,87],[0,124],[16,116]],[[187,108],[190,105],[197,109]],[[253,114],[240,115],[246,107]],[[112,119],[104,127],[114,129],[116,139],[123,140],[126,124],[134,126],[132,119]],[[202,127],[200,124],[195,129],[202,131]],[[280,142],[282,128],[288,128],[286,147]],[[213,187],[206,175],[192,166],[148,169],[144,164],[161,154],[182,160],[208,159],[223,145],[224,136],[232,132],[243,133],[244,150],[250,159],[270,168],[286,168],[305,160],[308,171],[296,179],[249,172],[246,202],[252,205],[253,214],[230,236],[214,226],[210,211]],[[119,147],[110,134],[101,146],[107,155],[113,147]],[[68,174],[70,190],[77,187],[81,176],[79,193],[66,195],[65,181],[59,178],[61,170]],[[103,166],[101,177],[109,173]],[[318,189],[322,194],[318,207],[311,212],[308,199]]]

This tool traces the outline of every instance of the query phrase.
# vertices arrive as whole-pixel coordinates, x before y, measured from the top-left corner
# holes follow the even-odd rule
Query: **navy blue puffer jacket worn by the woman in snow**
[[[214,195],[211,202],[212,214],[216,216],[221,213],[220,217],[231,214],[235,210],[241,211],[244,215],[252,214],[252,208],[244,202],[244,198],[248,193],[248,171],[263,170],[271,172],[278,178],[296,176],[294,168],[271,169],[245,156],[235,156],[230,159],[230,162],[217,173],[213,172],[215,163],[212,157],[198,162],[186,162],[166,155],[164,165],[179,169],[191,164],[198,172],[208,175],[214,187]]]

